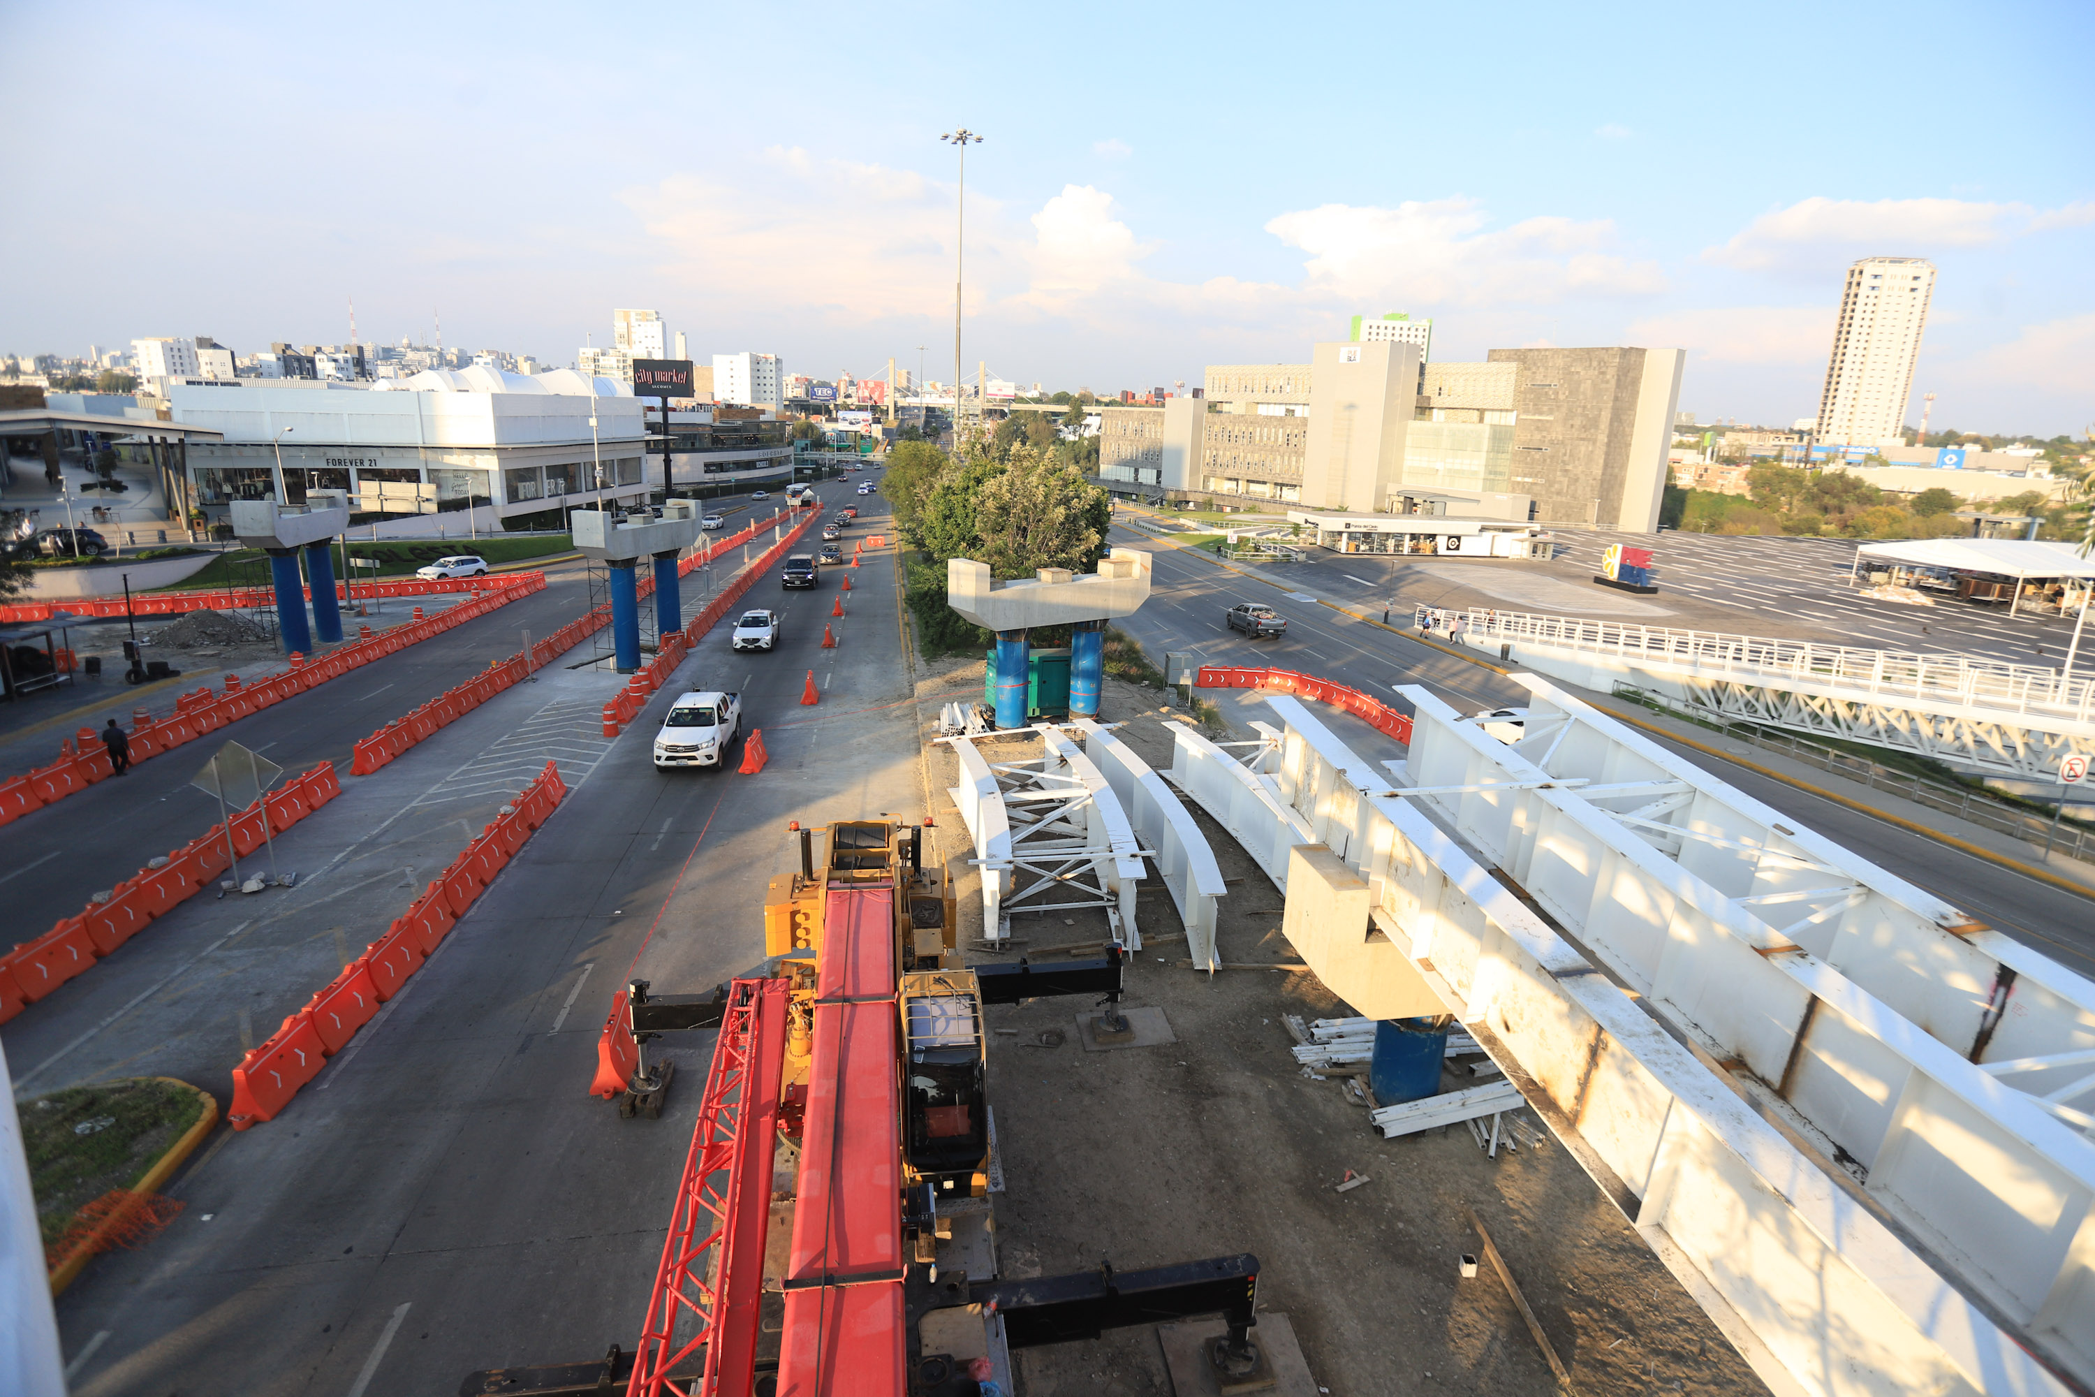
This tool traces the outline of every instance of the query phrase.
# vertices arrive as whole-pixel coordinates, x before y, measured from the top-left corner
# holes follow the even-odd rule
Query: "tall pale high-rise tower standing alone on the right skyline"
[[[1862,258],[1848,268],[1818,394],[1821,442],[1904,444],[1900,427],[1934,291],[1936,266],[1925,258]]]

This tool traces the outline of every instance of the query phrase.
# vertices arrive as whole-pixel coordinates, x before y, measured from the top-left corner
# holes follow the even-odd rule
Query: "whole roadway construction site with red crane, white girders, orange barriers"
[[[1852,733],[1854,651],[1439,643],[1117,532],[1089,574],[953,559],[995,645],[924,662],[859,503],[813,595],[819,503],[578,517],[574,566],[126,691],[122,779],[90,704],[57,764],[0,735],[52,926],[0,986],[25,1123],[212,1104],[122,1242],[13,1273],[25,1391],[2091,1389],[2085,894],[2003,928],[1909,873],[1940,846],[1854,848],[1611,689]],[[1215,586],[1297,628],[1192,630]],[[1364,658],[1282,649],[1309,622]],[[1108,626],[1198,649],[1135,683]],[[1869,672],[1877,731],[2095,744],[2085,681]]]

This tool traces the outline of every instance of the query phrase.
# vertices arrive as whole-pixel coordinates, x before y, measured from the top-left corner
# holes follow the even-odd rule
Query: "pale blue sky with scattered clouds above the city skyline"
[[[1198,383],[1410,310],[1435,358],[1684,346],[1684,408],[1787,423],[1892,253],[1940,268],[1909,421],[2078,434],[2091,40],[2089,4],[4,0],[0,352],[337,341],[354,295],[365,339],[440,310],[570,362],[652,306],[696,356],[949,377],[966,124],[970,375]]]

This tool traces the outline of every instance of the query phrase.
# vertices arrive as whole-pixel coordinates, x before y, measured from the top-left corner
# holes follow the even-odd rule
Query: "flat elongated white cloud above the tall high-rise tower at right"
[[[1984,247],[2026,232],[2095,222],[2095,203],[2036,212],[2028,203],[1969,199],[1800,199],[1762,214],[1703,262],[1745,270],[1823,264],[1837,256],[1919,256],[1938,247]]]

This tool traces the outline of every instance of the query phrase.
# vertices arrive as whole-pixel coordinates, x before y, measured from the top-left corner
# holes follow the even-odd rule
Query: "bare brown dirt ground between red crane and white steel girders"
[[[918,666],[920,716],[983,662]],[[1165,706],[1169,704],[1169,706]],[[1106,681],[1102,720],[1152,769],[1171,767],[1175,695]],[[1253,737],[1270,716],[1230,695],[1223,723]],[[1366,731],[1366,729],[1362,729]],[[1347,729],[1351,733],[1351,729]],[[1219,735],[1219,733],[1217,733]],[[1039,739],[983,741],[991,760],[1024,760]],[[1018,915],[1012,943],[980,945],[983,907],[968,831],[947,788],[957,760],[924,729],[924,783],[936,852],[957,875],[972,959],[1094,955],[1102,911]],[[1280,934],[1280,892],[1188,800],[1230,894],[1217,947],[1226,966],[1299,957]],[[1006,1192],[995,1202],[999,1278],[1154,1267],[1253,1252],[1259,1311],[1288,1317],[1318,1393],[1548,1393],[1548,1359],[1490,1263],[1460,1276],[1492,1232],[1506,1267],[1582,1393],[1766,1393],[1636,1229],[1548,1131],[1544,1144],[1490,1158],[1467,1127],[1383,1139],[1347,1100],[1343,1068],[1303,1074],[1282,1016],[1351,1016],[1307,972],[1221,970],[1186,961],[1182,922],[1159,882],[1140,901],[1146,945],[1129,957],[1127,1007],[1161,1007],[1175,1043],[1085,1051],[1089,1001],[991,1007],[989,1100]],[[1175,934],[1175,936],[1173,936]],[[1446,1089],[1475,1085],[1454,1070]],[[1521,1112],[1534,1121],[1534,1112]],[[1366,1183],[1337,1192],[1347,1171]],[[1156,1328],[1014,1355],[1020,1397],[1171,1395]],[[1179,1393],[1177,1397],[1186,1397]]]

